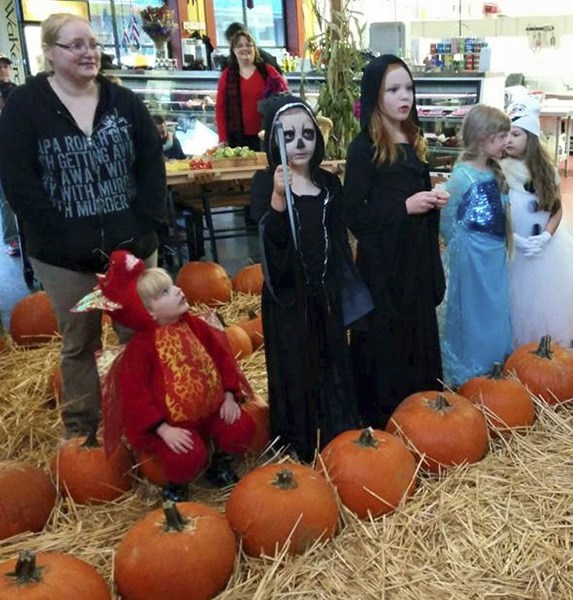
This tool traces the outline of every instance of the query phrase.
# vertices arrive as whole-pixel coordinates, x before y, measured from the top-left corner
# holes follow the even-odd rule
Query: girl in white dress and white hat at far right
[[[509,263],[515,347],[550,335],[573,340],[573,235],[562,221],[558,176],[539,136],[541,103],[526,92],[507,112],[511,130],[501,169],[509,185],[514,253]]]

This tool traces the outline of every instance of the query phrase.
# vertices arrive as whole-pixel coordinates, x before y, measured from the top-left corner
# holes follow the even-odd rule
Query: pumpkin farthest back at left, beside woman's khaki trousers
[[[10,335],[19,346],[41,346],[57,333],[56,315],[46,292],[30,294],[14,305]]]

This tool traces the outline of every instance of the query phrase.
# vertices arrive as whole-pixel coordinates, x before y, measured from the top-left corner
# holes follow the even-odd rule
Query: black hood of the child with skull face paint
[[[292,108],[302,108],[305,110],[309,114],[316,128],[316,149],[310,159],[310,173],[312,176],[324,159],[324,138],[322,137],[322,132],[316,122],[312,109],[304,100],[302,100],[302,98],[293,96],[292,94],[278,94],[269,97],[262,103],[261,114],[263,116],[263,127],[265,129],[263,150],[267,153],[269,169],[271,172],[274,172],[281,162],[279,149],[275,141],[275,124],[281,114]]]

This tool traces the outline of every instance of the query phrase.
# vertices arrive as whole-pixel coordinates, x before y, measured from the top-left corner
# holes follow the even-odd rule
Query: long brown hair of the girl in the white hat
[[[555,177],[555,167],[539,138],[529,131],[525,133],[527,144],[524,161],[531,174],[535,194],[539,198],[538,210],[555,214],[561,208],[561,192]]]

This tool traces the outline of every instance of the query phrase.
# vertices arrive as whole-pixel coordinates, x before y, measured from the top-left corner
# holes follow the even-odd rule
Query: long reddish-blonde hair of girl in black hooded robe
[[[380,89],[384,88],[386,84],[386,77],[390,71],[404,68],[401,64],[390,64],[384,73]],[[413,81],[412,81],[413,83]],[[415,110],[415,108],[413,109]],[[402,123],[402,131],[406,136],[406,139],[416,151],[418,158],[426,162],[426,141],[420,128],[414,122],[412,114],[408,115],[406,121]],[[382,166],[386,161],[390,164],[394,164],[398,160],[398,152],[401,150],[400,146],[394,143],[386,126],[384,125],[384,116],[378,104],[376,104],[370,117],[370,123],[368,124],[368,133],[374,141],[374,160],[379,166]]]

